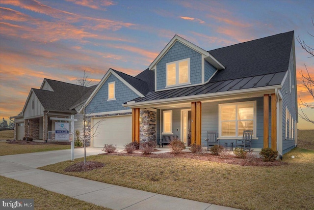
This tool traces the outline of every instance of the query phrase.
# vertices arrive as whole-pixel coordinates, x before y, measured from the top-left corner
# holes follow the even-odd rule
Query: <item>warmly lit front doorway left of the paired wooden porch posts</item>
[[[185,143],[185,146],[191,144],[191,110],[181,110],[181,141]]]

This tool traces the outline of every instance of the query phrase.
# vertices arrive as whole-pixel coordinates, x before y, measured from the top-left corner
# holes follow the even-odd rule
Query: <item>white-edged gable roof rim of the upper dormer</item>
[[[159,53],[159,55],[157,56],[157,58],[152,62],[152,64],[150,64],[150,66],[148,67],[149,70],[153,70],[155,69],[155,66],[157,65],[157,62],[159,62],[159,60],[162,59],[162,57],[169,51],[169,49],[177,42],[181,42],[182,44],[184,44],[185,46],[195,50],[196,52],[204,55],[205,60],[209,61],[209,63],[211,65],[213,65],[216,69],[224,69],[225,66],[223,64],[221,64],[221,62],[219,60],[217,60],[216,58],[214,58],[209,52],[207,52],[206,50],[203,50],[202,48],[196,46],[195,44],[187,41],[186,39],[183,39],[181,36],[178,36],[177,34],[170,40],[170,42],[166,45],[165,48],[163,48],[163,50]]]

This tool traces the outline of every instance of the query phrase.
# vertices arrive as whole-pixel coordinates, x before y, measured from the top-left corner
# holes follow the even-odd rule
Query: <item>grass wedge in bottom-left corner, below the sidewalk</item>
[[[34,199],[35,210],[110,210],[2,176],[0,183],[0,198]]]

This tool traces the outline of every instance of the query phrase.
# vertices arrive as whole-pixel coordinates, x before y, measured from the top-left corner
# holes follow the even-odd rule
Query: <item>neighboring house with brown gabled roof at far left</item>
[[[40,89],[30,90],[22,112],[10,117],[15,122],[14,139],[53,140],[55,120],[50,120],[51,117],[71,118],[74,115],[78,119],[75,130],[81,131],[82,114],[77,111],[95,88],[44,79]]]

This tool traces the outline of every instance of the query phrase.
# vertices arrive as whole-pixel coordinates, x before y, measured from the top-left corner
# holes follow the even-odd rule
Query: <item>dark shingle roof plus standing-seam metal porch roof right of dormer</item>
[[[209,97],[216,93],[223,95],[280,88],[288,71],[293,39],[294,32],[290,31],[211,50],[210,54],[226,68],[217,71],[208,83],[174,90],[151,91],[145,97],[130,102],[146,104],[157,100],[172,101]]]

